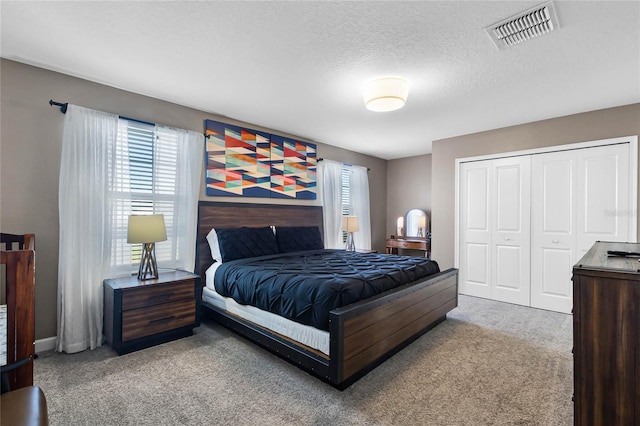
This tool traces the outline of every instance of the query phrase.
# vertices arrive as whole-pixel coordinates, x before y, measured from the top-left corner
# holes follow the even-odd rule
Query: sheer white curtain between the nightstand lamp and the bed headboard
[[[196,262],[196,232],[198,197],[204,155],[204,135],[188,130],[156,127],[158,150],[171,149],[176,144],[176,174],[173,194],[173,223],[167,229],[167,241],[157,243],[157,249],[170,244],[171,260],[158,265],[193,272]]]

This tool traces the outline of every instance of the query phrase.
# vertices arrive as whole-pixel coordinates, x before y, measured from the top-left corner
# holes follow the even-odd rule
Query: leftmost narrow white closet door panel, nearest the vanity
[[[491,188],[493,162],[460,164],[460,293],[491,298]]]

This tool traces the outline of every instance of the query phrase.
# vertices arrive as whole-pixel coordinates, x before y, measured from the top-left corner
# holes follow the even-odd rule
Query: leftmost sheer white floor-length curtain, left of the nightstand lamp
[[[108,188],[117,132],[118,116],[68,106],[58,191],[57,351],[102,344],[102,280],[111,252]]]

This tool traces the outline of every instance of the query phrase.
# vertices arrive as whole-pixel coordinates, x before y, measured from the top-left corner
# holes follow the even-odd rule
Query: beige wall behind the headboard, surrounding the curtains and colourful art
[[[0,229],[36,234],[36,339],[55,336],[57,317],[58,176],[64,115],[49,106],[49,99],[199,132],[209,118],[295,137],[5,59],[0,62],[0,92]],[[318,155],[370,168],[372,241],[375,249],[384,250],[387,162],[321,143]],[[201,182],[200,199],[274,202],[206,197],[204,177]],[[320,199],[312,204],[321,204]]]

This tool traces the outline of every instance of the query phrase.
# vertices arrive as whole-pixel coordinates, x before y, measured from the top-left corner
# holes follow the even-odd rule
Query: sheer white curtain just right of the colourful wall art
[[[344,248],[342,242],[342,163],[323,160],[319,166],[322,173],[322,209],[324,216],[324,247]]]

